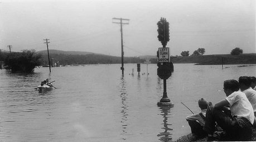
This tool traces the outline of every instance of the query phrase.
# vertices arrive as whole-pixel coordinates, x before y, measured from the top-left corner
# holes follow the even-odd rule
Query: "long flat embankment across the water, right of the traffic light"
[[[195,63],[196,65],[256,64],[256,53],[241,55],[203,55],[172,58],[173,63]]]

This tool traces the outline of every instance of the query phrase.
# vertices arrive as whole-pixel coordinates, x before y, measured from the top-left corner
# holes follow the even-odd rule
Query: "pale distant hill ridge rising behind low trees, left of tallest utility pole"
[[[47,54],[47,50],[37,51],[37,53],[41,53],[42,55]],[[88,54],[98,54],[93,52],[84,52],[84,51],[61,51],[61,50],[49,50],[50,54],[64,54],[64,55],[88,55]],[[98,54],[100,55],[100,54]]]

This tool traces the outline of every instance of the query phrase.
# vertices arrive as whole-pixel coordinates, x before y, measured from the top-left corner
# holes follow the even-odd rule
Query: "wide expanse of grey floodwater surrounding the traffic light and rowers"
[[[120,65],[0,70],[0,141],[173,141],[190,133],[185,117],[192,113],[181,102],[197,113],[201,97],[213,104],[225,97],[224,80],[256,76],[255,65],[174,67],[167,80],[173,107],[157,106],[163,80],[155,64],[142,64],[140,75],[125,64],[124,77]],[[35,90],[46,78],[57,89]]]

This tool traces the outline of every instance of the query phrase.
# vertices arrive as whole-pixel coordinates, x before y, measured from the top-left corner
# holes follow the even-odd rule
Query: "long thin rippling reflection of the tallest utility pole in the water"
[[[128,110],[128,102],[127,102],[127,90],[126,90],[126,81],[124,80],[124,77],[122,76],[121,80],[120,80],[120,97],[121,97],[121,102],[122,102],[122,105],[121,105],[121,114],[122,114],[122,120],[121,120],[121,124],[122,124],[122,133],[121,135],[123,136],[123,140],[125,140],[125,135],[127,135],[127,126],[128,126],[128,123],[127,123],[127,117],[128,117],[128,114],[127,114],[127,110]]]

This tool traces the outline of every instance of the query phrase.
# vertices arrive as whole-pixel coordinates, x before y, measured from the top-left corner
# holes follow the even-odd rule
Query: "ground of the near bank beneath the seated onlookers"
[[[226,139],[226,138],[224,138]],[[177,139],[175,142],[187,142],[187,141],[207,141],[207,137],[201,138],[201,139],[196,139],[192,136],[192,134],[181,136],[179,139]],[[226,140],[221,140],[221,141],[229,141],[228,139]],[[256,129],[253,129],[253,138],[252,141],[256,141]]]

